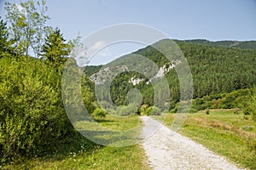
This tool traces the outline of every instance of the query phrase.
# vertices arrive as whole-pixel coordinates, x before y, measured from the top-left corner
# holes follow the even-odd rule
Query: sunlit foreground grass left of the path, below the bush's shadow
[[[3,169],[148,169],[143,149],[138,145],[123,148],[98,147],[91,152],[26,160]]]

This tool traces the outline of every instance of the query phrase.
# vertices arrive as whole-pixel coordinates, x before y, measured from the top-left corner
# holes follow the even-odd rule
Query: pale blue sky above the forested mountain
[[[15,1],[15,0],[14,0]],[[14,2],[13,1],[13,2]],[[1,15],[4,15],[3,0]],[[16,2],[19,2],[16,0]],[[256,0],[46,0],[49,25],[67,40],[122,23],[152,26],[172,39],[256,40]],[[102,48],[90,64],[104,64],[144,45]],[[106,57],[108,55],[108,57]],[[108,58],[108,59],[107,59]],[[93,62],[92,62],[93,61]]]

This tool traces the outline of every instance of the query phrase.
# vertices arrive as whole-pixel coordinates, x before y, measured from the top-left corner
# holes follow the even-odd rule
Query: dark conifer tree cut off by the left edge
[[[4,54],[12,53],[11,44],[12,41],[9,40],[9,32],[7,31],[6,22],[1,20],[0,17],[0,58],[2,58]]]

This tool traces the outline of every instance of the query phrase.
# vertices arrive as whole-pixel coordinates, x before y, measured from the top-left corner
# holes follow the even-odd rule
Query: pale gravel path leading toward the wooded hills
[[[143,149],[148,163],[154,169],[239,169],[224,157],[215,155],[201,144],[175,133],[148,116],[141,117],[144,122],[143,137],[159,130],[143,141]]]

